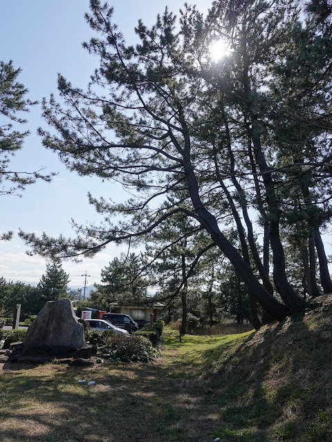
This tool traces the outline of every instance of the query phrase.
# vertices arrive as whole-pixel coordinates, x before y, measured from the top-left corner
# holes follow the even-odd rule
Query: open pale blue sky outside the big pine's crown
[[[207,10],[210,2],[195,1],[200,10]],[[114,0],[114,21],[118,23],[128,43],[135,41],[133,32],[138,19],[152,25],[158,12],[168,5],[178,12],[183,6],[177,0]],[[89,10],[89,0],[10,0],[0,2],[0,59],[14,61],[22,73],[19,80],[29,89],[30,99],[42,101],[56,93],[57,73],[62,73],[75,86],[84,87],[98,59],[89,55],[82,42],[92,33],[84,20]],[[91,177],[78,177],[66,171],[57,155],[42,146],[36,135],[39,126],[46,127],[40,116],[40,106],[28,115],[25,128],[30,131],[24,148],[17,153],[11,166],[16,171],[35,171],[45,167],[58,175],[50,184],[39,182],[29,186],[22,197],[1,197],[0,231],[46,231],[50,235],[73,236],[70,220],[96,221],[98,215],[87,202],[86,193],[96,197],[103,195],[113,199],[125,198],[116,184],[101,183]],[[1,119],[0,119],[1,124]],[[10,242],[1,242],[0,276],[8,280],[37,282],[46,269],[44,258],[26,255],[24,243],[15,236]],[[125,247],[110,245],[92,260],[77,264],[64,262],[64,269],[71,276],[71,285],[82,285],[82,274],[87,271],[88,285],[100,281],[100,271]]]

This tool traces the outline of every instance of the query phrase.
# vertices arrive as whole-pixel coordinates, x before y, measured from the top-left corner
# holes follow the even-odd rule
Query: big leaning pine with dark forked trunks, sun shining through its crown
[[[285,71],[282,66],[288,75],[282,80],[283,75],[278,75],[275,68],[286,57],[283,48],[288,41],[292,40],[296,50],[300,44],[292,38],[301,22],[298,2],[249,0],[244,6],[241,2],[220,0],[212,3],[206,20],[186,5],[179,32],[176,18],[166,9],[151,28],[139,21],[136,33],[140,43],[135,47],[125,44],[112,21],[112,8],[98,0],[91,0],[90,4],[91,14],[86,19],[99,35],[84,46],[100,57],[100,69],[85,91],[59,75],[62,103],[53,96],[49,103],[44,102],[44,117],[57,135],[42,129],[39,133],[45,146],[57,151],[71,171],[120,181],[134,196],[113,204],[90,195],[90,202],[104,215],[105,222],[101,226],[77,224],[74,240],[46,235],[37,238],[26,233],[21,237],[42,255],[93,256],[109,242],[146,238],[154,229],[167,227],[168,220],[172,222],[183,215],[190,217],[197,229],[208,233],[210,246],[219,247],[255,300],[271,316],[282,319],[301,311],[305,304],[288,282],[280,235],[284,215],[280,189],[286,189],[285,184],[291,181],[295,164],[279,167],[282,144],[275,140],[275,133],[280,110],[287,113],[288,108],[284,95],[279,96],[275,93],[277,88],[273,88],[273,81],[277,86],[284,81],[283,90],[289,92],[291,77],[295,93],[304,94],[291,69]],[[214,62],[208,53],[209,45],[219,37],[228,39],[230,51],[223,61]],[[319,48],[319,40],[312,41]],[[311,75],[318,71],[315,64]],[[327,77],[331,76],[330,71],[326,70]],[[296,75],[302,76],[300,70]],[[329,79],[323,86],[319,84],[318,89],[325,91]],[[100,94],[103,88],[104,94]],[[221,114],[221,102],[226,120],[231,122],[229,132],[222,119],[205,119],[208,106]],[[301,111],[306,99],[299,104]],[[313,126],[317,126],[319,115],[310,106],[308,109]],[[200,124],[212,136],[200,137]],[[228,136],[234,168],[225,147]],[[321,141],[313,137],[314,146]],[[325,154],[317,158],[315,168],[324,171],[328,158]],[[286,173],[286,169],[291,172]],[[263,287],[251,262],[243,260],[245,247],[239,251],[232,244],[229,224],[236,212],[230,210],[230,203],[233,199],[238,210],[241,198],[234,191],[232,174],[246,189],[250,209],[255,210],[255,215],[259,212],[261,224],[268,225],[275,287],[284,303],[266,289],[268,275]],[[225,198],[221,181],[231,198]],[[324,189],[327,191],[326,186]],[[172,205],[165,204],[170,194],[176,195]],[[242,210],[246,204],[240,202]],[[122,220],[112,223],[119,214]],[[246,225],[251,228],[249,222]],[[242,229],[240,223],[238,229]],[[254,250],[253,245],[248,252]],[[259,260],[255,262],[259,265]]]

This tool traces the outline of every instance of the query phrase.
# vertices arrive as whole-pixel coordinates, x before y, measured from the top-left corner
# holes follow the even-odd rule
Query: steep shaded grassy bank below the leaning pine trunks
[[[332,296],[264,327],[223,358],[208,385],[225,441],[332,441]]]

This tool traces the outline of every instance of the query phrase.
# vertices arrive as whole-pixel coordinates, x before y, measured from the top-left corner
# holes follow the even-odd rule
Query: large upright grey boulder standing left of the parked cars
[[[84,328],[68,299],[48,301],[23,338],[24,352],[39,349],[48,352],[52,348],[78,349],[86,345]]]

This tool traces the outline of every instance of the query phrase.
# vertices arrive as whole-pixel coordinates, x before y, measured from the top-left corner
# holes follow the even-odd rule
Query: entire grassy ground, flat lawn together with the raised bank
[[[169,332],[152,364],[5,364],[0,441],[332,441],[331,313],[332,296],[256,333]]]

